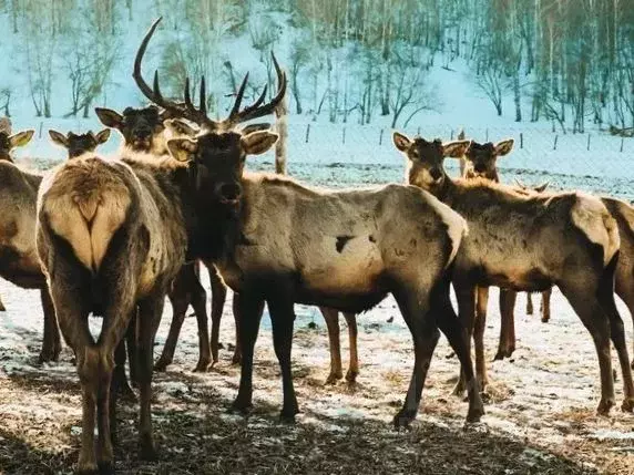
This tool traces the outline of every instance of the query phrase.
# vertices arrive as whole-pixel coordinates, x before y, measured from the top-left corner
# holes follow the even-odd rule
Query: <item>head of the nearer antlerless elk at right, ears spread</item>
[[[470,141],[456,141],[443,144],[436,138],[428,142],[422,137],[413,141],[398,132],[393,133],[393,143],[408,158],[407,179],[410,185],[438,195],[447,179],[442,163],[444,157],[460,158],[469,149]]]

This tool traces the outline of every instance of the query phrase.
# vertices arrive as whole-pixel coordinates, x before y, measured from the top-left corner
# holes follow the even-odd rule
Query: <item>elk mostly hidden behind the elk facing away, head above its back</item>
[[[123,136],[123,147],[126,153],[142,152],[158,158],[168,154],[166,137],[173,134],[195,134],[195,131],[185,128],[187,125],[184,122],[166,128],[165,121],[174,116],[181,117],[182,115],[180,113],[174,115],[165,110],[161,111],[154,105],[143,109],[126,107],[122,114],[110,109],[96,107],[95,113],[105,126],[116,130]],[[226,287],[213,268],[209,268],[209,280],[213,295],[212,322],[215,322],[216,320],[219,321],[218,314],[222,314],[223,311]],[[197,261],[183,266],[174,281],[174,286],[168,292],[168,297],[173,309],[172,324],[163,353],[156,361],[155,370],[165,371],[172,363],[181,327],[185,321],[187,308],[192,306],[198,326],[200,347],[198,362],[194,371],[206,371],[212,362],[215,363],[218,360],[218,343],[216,337],[215,344],[212,343],[212,348],[209,348],[206,310],[207,293],[201,285],[200,265]],[[212,327],[213,329],[214,327]],[[129,344],[129,352],[131,347]],[[132,357],[131,354],[131,361]]]

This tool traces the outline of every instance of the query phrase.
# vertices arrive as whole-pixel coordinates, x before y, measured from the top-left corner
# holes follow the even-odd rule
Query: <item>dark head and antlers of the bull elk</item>
[[[273,61],[277,72],[278,91],[275,97],[265,103],[266,86],[262,94],[249,106],[241,109],[248,74],[237,92],[229,115],[223,121],[213,121],[207,116],[205,79],[201,81],[200,105],[194,106],[190,92],[190,80],[185,81],[185,100],[175,103],[166,100],[158,87],[158,74],[154,73],[153,86],[150,86],[141,73],[141,62],[161,18],[150,28],[141,42],[134,61],[133,78],[141,92],[154,104],[173,116],[180,116],[195,123],[200,131],[193,137],[172,138],[167,148],[172,156],[190,164],[193,185],[201,200],[201,206],[223,206],[237,209],[242,197],[242,177],[247,155],[265,153],[277,141],[277,134],[270,133],[264,124],[245,127],[245,132],[236,130],[237,125],[274,112],[286,93],[286,74],[279,69],[275,56]],[[166,121],[170,128],[177,128],[182,121]],[[266,124],[267,125],[267,124]]]

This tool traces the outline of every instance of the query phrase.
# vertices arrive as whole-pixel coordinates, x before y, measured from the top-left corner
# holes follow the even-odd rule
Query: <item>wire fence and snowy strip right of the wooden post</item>
[[[408,127],[401,132],[427,140],[457,140],[461,128],[447,125]],[[583,189],[634,199],[634,138],[603,132],[563,134],[550,128],[466,127],[480,143],[513,138],[513,151],[498,159],[505,183],[550,182],[555,189]],[[389,127],[355,124],[289,124],[288,173],[321,185],[378,184],[403,179],[403,157]],[[269,169],[273,153],[249,166]],[[447,159],[458,175],[458,161]]]

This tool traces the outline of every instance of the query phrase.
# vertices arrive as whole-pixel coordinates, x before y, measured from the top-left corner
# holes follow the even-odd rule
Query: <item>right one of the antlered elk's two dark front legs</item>
[[[290,353],[293,349],[293,324],[295,310],[293,300],[284,296],[275,297],[268,302],[270,323],[273,326],[273,345],[282,370],[282,386],[284,390],[284,404],[279,419],[283,422],[294,422],[295,414],[299,413],[297,396],[293,385]]]

